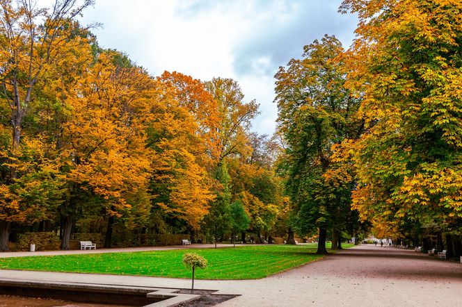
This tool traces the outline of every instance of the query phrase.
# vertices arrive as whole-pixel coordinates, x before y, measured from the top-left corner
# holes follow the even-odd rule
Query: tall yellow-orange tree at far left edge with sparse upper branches
[[[37,207],[39,203],[49,203],[24,199],[22,189],[39,186],[30,182],[34,178],[31,172],[51,174],[51,168],[45,166],[49,160],[47,152],[38,149],[42,147],[42,142],[35,138],[36,134],[27,131],[29,127],[24,125],[24,119],[37,119],[31,112],[40,92],[36,85],[45,78],[58,77],[54,67],[63,56],[70,56],[72,62],[71,54],[80,53],[82,40],[79,33],[86,31],[80,28],[75,17],[91,3],[93,1],[86,0],[79,6],[75,0],[65,0],[56,2],[52,9],[42,9],[35,8],[30,1],[0,2],[0,99],[3,124],[0,190],[2,198],[9,199],[0,204],[0,251],[8,250],[11,222],[32,222],[33,219],[25,217],[30,209],[40,210]],[[10,136],[7,135],[8,129]],[[34,161],[35,165],[32,165]],[[43,165],[40,161],[44,162]],[[40,177],[36,179],[40,181]]]

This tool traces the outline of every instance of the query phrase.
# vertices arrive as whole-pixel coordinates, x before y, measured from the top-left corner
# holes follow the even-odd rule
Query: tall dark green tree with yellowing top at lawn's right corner
[[[318,254],[326,254],[328,228],[338,233],[349,210],[351,181],[333,185],[324,176],[332,166],[333,144],[360,133],[352,116],[358,108],[344,89],[343,48],[325,35],[305,46],[303,58],[292,59],[276,74],[280,130],[287,141],[287,192],[295,206],[298,232],[319,229]]]

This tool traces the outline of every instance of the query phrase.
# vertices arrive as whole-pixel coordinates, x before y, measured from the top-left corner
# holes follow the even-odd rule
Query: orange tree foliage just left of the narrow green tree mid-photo
[[[159,78],[157,108],[148,123],[148,147],[154,151],[154,210],[198,231],[214,200],[216,101],[204,83],[179,73]]]

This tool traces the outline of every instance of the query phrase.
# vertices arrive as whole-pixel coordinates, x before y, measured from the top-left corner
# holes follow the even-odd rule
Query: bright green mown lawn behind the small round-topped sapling
[[[133,253],[79,254],[1,258],[0,269],[191,278],[183,254],[194,252],[208,260],[197,279],[261,279],[298,267],[322,256],[316,244],[264,245],[219,249],[177,249]]]

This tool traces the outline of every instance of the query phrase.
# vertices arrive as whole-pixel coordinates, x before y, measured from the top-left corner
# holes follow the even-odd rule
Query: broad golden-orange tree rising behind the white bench
[[[103,51],[65,95],[72,110],[58,139],[67,192],[61,248],[69,248],[74,217],[83,206],[99,206],[108,217],[106,246],[114,219],[132,208],[150,208],[151,152],[145,144],[145,120],[152,108],[152,78],[140,67],[120,67],[120,53]],[[144,208],[143,208],[144,207]]]

